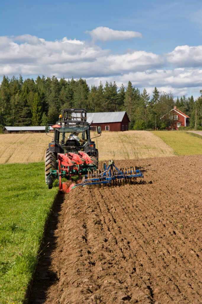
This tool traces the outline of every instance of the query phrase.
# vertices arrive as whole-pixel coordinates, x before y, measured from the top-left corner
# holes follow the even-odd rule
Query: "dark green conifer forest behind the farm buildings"
[[[152,95],[142,92],[131,81],[118,89],[116,82],[100,81],[91,88],[85,79],[65,80],[52,76],[38,76],[36,80],[23,80],[3,76],[0,86],[0,131],[4,126],[45,126],[55,124],[61,109],[83,108],[88,112],[127,111],[130,130],[165,129],[174,123],[169,111],[173,107],[190,116],[190,127],[202,130],[202,90],[200,97],[185,95],[174,99],[172,93],[159,92],[155,87]]]

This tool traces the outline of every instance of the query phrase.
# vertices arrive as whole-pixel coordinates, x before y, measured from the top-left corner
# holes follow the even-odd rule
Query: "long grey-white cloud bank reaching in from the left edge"
[[[73,77],[116,75],[157,68],[164,58],[145,51],[130,50],[113,55],[80,40],[46,41],[31,35],[1,37],[0,67],[5,74],[55,74]],[[22,43],[20,43],[22,41]]]

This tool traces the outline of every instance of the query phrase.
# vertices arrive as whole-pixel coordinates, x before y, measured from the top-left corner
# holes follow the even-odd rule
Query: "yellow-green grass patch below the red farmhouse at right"
[[[176,155],[202,154],[202,136],[193,136],[193,133],[182,131],[153,131]],[[197,134],[196,134],[197,135]]]

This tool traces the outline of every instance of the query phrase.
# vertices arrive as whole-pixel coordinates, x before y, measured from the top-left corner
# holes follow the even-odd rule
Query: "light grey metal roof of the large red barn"
[[[97,113],[87,113],[87,121],[91,123],[118,123],[121,122],[124,118],[126,111],[121,112],[97,112]],[[127,115],[127,113],[126,113]],[[128,116],[127,116],[128,118]],[[128,121],[129,118],[128,118]]]

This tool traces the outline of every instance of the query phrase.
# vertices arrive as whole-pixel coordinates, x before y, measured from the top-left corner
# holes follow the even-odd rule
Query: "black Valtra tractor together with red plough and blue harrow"
[[[46,150],[45,182],[49,189],[56,178],[59,190],[68,193],[77,186],[125,184],[143,177],[135,168],[116,168],[113,160],[108,166],[104,162],[103,170],[98,170],[98,149],[92,139],[101,136],[101,126],[97,126],[98,136],[91,138],[91,124],[85,109],[62,110],[59,120],[52,126],[54,136]],[[49,133],[50,126],[45,130]]]

